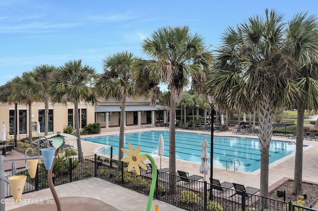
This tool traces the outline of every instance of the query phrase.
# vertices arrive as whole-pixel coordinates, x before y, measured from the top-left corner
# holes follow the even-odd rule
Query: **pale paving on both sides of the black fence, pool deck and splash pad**
[[[132,132],[140,132],[140,131],[162,131],[162,130],[168,130],[164,127],[150,127],[150,128],[142,128],[142,129],[127,129],[125,130],[125,133],[132,133]],[[210,134],[210,132],[203,132],[203,131],[191,131],[191,130],[179,130],[176,129],[176,131],[181,132],[192,132],[192,133],[202,133],[202,134]],[[237,135],[233,134],[233,132],[236,131],[236,128],[230,128],[226,132],[219,132],[215,133],[215,136],[237,136],[237,137],[254,137],[255,136],[249,136],[249,135]],[[94,136],[102,136],[102,135],[113,135],[113,134],[119,134],[119,128],[118,131],[109,131],[109,132],[103,132],[98,135]],[[82,136],[84,137],[92,137],[92,135],[88,136]],[[288,139],[286,137],[277,137],[273,136],[272,140],[279,140],[279,141],[295,141],[295,139]],[[68,139],[68,142],[74,146],[75,149],[77,149],[77,141]],[[208,141],[209,142],[209,141]],[[318,141],[311,141],[311,140],[304,140],[304,145],[308,145],[309,147],[306,147],[303,152],[303,181],[310,181],[314,183],[318,183],[318,158],[317,158],[317,152],[318,152]],[[91,143],[87,141],[81,141],[81,146],[83,150],[84,156],[91,156],[96,152],[97,148],[102,147],[102,144],[97,143]],[[142,150],[142,149],[141,149]],[[160,166],[160,157],[157,155],[154,155],[154,159],[157,163],[157,166]],[[147,160],[146,160],[147,162]],[[169,167],[168,166],[169,160],[168,157],[161,157],[161,168]],[[295,153],[282,158],[274,163],[271,163],[269,165],[269,190],[274,189],[282,179],[284,178],[294,178],[294,165],[295,165]],[[185,170],[189,172],[189,175],[197,174],[199,173],[199,166],[200,163],[191,162],[191,161],[185,161],[176,159],[176,166],[177,170]],[[209,181],[209,175],[206,175],[206,180]],[[213,178],[219,179],[220,182],[234,182],[243,184],[245,187],[250,186],[254,188],[259,188],[260,184],[260,170],[256,170],[254,172],[243,172],[243,171],[234,171],[226,170],[225,168],[221,167],[214,167],[213,168]],[[79,187],[84,185],[82,189],[79,191]],[[112,194],[105,194],[100,193],[100,189],[96,191],[96,188],[98,187],[109,187],[111,190],[108,190],[108,193]],[[65,189],[66,188],[66,189]],[[115,209],[118,210],[127,210],[127,207],[124,206],[130,206],[130,208],[134,208],[133,210],[145,210],[145,205],[147,205],[147,196],[139,194],[137,192],[122,188],[120,186],[111,184],[107,181],[100,180],[98,178],[91,178],[88,180],[80,180],[72,183],[68,183],[65,185],[60,185],[56,187],[57,192],[60,197],[91,197],[94,199],[101,200],[110,206],[113,206]],[[115,193],[118,195],[114,195]],[[52,195],[49,189],[36,191],[33,193],[24,194],[22,198],[25,199],[44,199],[44,196],[46,199],[51,199]],[[125,205],[123,205],[123,198],[120,198],[119,196],[123,197],[129,197],[133,198],[132,200],[125,200]],[[111,197],[111,198],[110,198]],[[110,198],[110,199],[109,199]],[[136,199],[135,199],[136,198]],[[113,199],[113,200],[111,200]],[[117,200],[118,199],[118,200]],[[120,200],[121,199],[121,200]],[[134,200],[135,199],[135,200]],[[141,199],[141,200],[137,200]],[[157,204],[156,204],[157,203]],[[174,207],[172,205],[163,203],[158,200],[153,201],[153,208],[155,205],[159,205],[161,210],[182,210],[177,207]],[[14,208],[18,208],[21,205],[14,205],[14,204],[6,204],[6,210],[11,210]],[[317,209],[315,207],[315,209]],[[16,210],[18,211],[18,210]],[[25,211],[25,210],[24,210]]]

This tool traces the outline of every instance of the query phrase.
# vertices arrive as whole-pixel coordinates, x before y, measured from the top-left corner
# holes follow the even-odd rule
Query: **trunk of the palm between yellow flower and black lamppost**
[[[169,191],[170,193],[174,193],[176,189],[176,181],[175,177],[175,100],[174,96],[171,92],[170,95],[170,114],[169,114]]]

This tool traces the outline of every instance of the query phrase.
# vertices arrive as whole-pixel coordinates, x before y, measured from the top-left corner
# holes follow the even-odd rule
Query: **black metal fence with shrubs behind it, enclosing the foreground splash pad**
[[[97,155],[83,158],[58,158],[53,168],[53,181],[61,185],[76,180],[98,177],[118,184],[130,190],[149,195],[153,177],[151,168],[141,169],[141,175],[135,170],[127,170],[128,163]],[[5,172],[9,173],[9,171]],[[16,175],[27,175],[22,171]],[[258,211],[265,205],[266,211],[315,211],[311,208],[293,205],[263,198],[255,194],[247,194],[233,188],[211,185],[206,181],[191,180],[179,175],[164,172],[157,174],[157,184],[154,198],[189,211]],[[183,178],[183,179],[182,179]],[[172,181],[169,183],[169,181]],[[36,177],[27,177],[23,193],[48,188],[47,170],[44,164],[39,164]],[[10,197],[10,187],[5,187],[5,196]]]

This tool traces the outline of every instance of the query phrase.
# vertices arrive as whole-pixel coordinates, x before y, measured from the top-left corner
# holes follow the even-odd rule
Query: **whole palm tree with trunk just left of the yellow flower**
[[[132,65],[137,60],[133,53],[121,52],[103,59],[103,74],[95,82],[95,91],[105,99],[115,99],[121,102],[119,149],[124,148],[125,105],[128,97],[136,96],[136,87],[132,79]],[[123,152],[119,150],[119,160]]]

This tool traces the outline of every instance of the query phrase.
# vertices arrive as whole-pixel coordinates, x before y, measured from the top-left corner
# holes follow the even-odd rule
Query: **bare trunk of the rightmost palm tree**
[[[296,154],[293,194],[303,194],[303,144],[304,144],[304,115],[305,108],[298,105],[297,131],[296,131]]]

